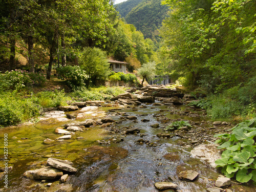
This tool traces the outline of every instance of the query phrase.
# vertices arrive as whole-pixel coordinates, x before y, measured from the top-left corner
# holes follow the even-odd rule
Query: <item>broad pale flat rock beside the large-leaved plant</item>
[[[193,158],[199,158],[210,164],[211,167],[216,167],[215,161],[221,158],[221,150],[216,144],[200,144],[190,151]]]

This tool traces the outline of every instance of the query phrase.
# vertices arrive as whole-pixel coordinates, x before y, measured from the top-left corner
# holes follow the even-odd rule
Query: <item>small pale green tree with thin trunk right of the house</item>
[[[143,82],[145,79],[151,79],[155,76],[156,72],[156,63],[155,62],[147,62],[142,65],[140,69],[138,69],[138,74],[143,78],[141,82],[141,86],[143,86]]]

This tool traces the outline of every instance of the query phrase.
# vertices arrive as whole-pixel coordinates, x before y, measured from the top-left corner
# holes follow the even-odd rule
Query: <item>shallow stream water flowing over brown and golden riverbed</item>
[[[185,106],[180,106],[176,110],[184,108]],[[147,108],[137,111],[124,108],[118,110],[119,113],[109,112],[110,109],[113,107],[100,107],[98,112],[101,115],[105,113],[116,121],[120,120],[122,112],[125,112],[125,115],[136,116],[137,121],[126,120],[107,127],[89,127],[84,132],[76,132],[72,136],[74,139],[53,144],[44,144],[42,141],[46,138],[56,139],[59,137],[60,135],[55,133],[55,129],[67,122],[73,122],[73,120],[67,122],[45,120],[33,125],[0,130],[1,141],[4,140],[4,134],[8,134],[8,165],[13,167],[8,173],[8,189],[4,188],[3,180],[1,180],[0,188],[3,191],[146,192],[158,191],[154,187],[155,182],[171,181],[178,185],[179,191],[196,192],[206,191],[206,188],[214,186],[215,180],[220,174],[216,169],[210,168],[199,159],[191,158],[189,154],[191,148],[177,145],[179,137],[158,138],[156,134],[162,132],[161,127],[150,126],[157,123],[157,116],[164,115],[170,119],[181,118],[180,116],[170,114],[166,106],[147,105]],[[76,115],[79,112],[69,113]],[[88,118],[91,117],[88,116]],[[142,122],[142,119],[150,121]],[[182,116],[182,119],[207,120],[205,117],[191,118],[187,116]],[[115,130],[133,126],[140,130],[139,134],[124,136],[118,131],[113,134]],[[83,139],[75,139],[77,137],[83,137]],[[108,141],[113,138],[122,138],[123,141],[111,142],[108,145],[99,145],[96,142],[103,139]],[[155,142],[157,146],[150,147],[145,143],[139,144],[136,142],[139,139]],[[1,148],[3,151],[2,142]],[[170,158],[165,158],[166,154],[170,154]],[[70,175],[66,183],[61,183],[58,180],[47,181],[53,183],[51,187],[47,187],[46,183],[41,183],[41,181],[30,180],[22,176],[26,170],[46,165],[49,157],[72,161],[78,172]],[[0,166],[4,167],[2,153],[0,158]],[[193,182],[179,180],[177,172],[184,169],[196,170],[199,173],[198,178]],[[251,184],[232,183],[229,188],[233,191],[255,191],[255,187]]]

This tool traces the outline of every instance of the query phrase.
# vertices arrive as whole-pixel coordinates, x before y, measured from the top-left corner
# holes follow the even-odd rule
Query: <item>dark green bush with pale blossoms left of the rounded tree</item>
[[[79,66],[66,66],[57,69],[60,79],[65,80],[72,90],[86,86],[89,76]]]

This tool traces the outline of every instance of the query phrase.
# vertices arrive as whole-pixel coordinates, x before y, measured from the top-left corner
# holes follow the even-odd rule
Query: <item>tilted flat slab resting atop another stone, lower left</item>
[[[55,158],[48,158],[47,163],[52,167],[55,167],[61,170],[66,170],[67,172],[72,172],[72,173],[77,172],[77,169],[71,166],[72,162],[69,162],[69,161],[63,161]]]

